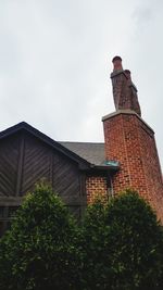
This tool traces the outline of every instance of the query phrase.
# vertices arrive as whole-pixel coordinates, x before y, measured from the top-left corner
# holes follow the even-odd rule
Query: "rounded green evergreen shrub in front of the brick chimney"
[[[158,289],[162,229],[152,209],[128,190],[106,211],[113,289]]]

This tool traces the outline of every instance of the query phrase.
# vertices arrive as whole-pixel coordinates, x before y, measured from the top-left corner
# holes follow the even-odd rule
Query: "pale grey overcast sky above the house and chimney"
[[[55,140],[103,141],[117,54],[163,165],[162,15],[162,0],[0,0],[0,130],[25,121]]]

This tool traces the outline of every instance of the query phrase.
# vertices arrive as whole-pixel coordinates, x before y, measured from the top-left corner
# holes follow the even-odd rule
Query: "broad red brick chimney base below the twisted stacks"
[[[154,133],[134,112],[120,111],[103,118],[105,156],[120,162],[115,192],[137,190],[163,220],[163,184]]]

